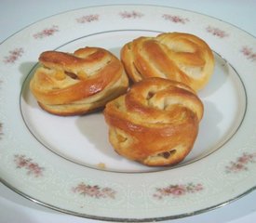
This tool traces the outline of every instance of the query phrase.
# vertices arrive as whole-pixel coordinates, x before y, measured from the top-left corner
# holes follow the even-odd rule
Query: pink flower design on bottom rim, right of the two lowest
[[[187,185],[176,184],[169,185],[166,188],[156,188],[156,193],[153,195],[157,199],[163,199],[164,197],[180,197],[187,193],[195,193],[197,191],[203,190],[202,184],[188,183]]]

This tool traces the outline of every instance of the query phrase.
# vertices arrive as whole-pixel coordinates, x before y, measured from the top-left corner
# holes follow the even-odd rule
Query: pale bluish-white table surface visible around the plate
[[[79,7],[90,7],[111,4],[154,4],[168,7],[179,7],[203,13],[256,36],[256,0],[1,0],[0,2],[0,43],[8,36],[20,31],[25,26]],[[224,205],[223,207],[196,216],[165,222],[219,222],[248,223],[256,220],[256,191]],[[54,223],[97,223],[102,222],[78,216],[65,215],[37,203],[33,203],[0,183],[0,222],[54,222]]]

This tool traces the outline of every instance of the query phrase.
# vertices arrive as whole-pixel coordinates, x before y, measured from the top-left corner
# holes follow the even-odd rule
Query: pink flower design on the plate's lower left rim
[[[31,158],[27,158],[25,155],[14,155],[14,163],[16,164],[16,168],[25,168],[27,175],[33,175],[34,177],[43,176],[45,168],[34,163]]]

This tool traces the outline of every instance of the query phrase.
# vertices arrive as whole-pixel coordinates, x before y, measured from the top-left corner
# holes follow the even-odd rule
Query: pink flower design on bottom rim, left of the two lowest
[[[74,193],[79,193],[84,196],[94,197],[94,198],[112,198],[115,199],[116,191],[111,188],[101,188],[98,185],[88,185],[81,182],[76,187],[72,189]]]

